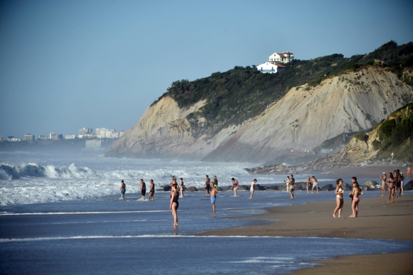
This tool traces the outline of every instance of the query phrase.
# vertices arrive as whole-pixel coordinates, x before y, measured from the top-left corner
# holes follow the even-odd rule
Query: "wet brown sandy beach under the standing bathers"
[[[371,173],[377,172],[377,168],[371,170]],[[361,196],[358,217],[348,218],[351,215],[351,201],[346,199],[342,212],[343,218],[333,218],[332,212],[336,204],[334,193],[332,193],[331,201],[273,207],[266,209],[268,211],[266,214],[245,217],[271,219],[274,220],[272,224],[210,231],[200,235],[339,237],[413,241],[413,195],[395,198],[394,204],[388,204],[387,201],[387,196],[366,199]],[[302,269],[294,274],[412,274],[412,259],[413,252],[344,256],[329,261],[317,261],[323,265]]]

